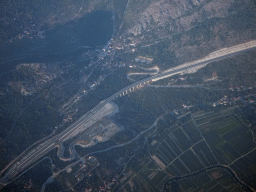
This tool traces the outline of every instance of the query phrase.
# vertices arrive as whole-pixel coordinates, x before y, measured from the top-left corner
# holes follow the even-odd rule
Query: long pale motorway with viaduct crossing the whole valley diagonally
[[[52,149],[58,147],[58,144],[60,142],[64,141],[65,138],[71,132],[75,131],[76,128],[78,128],[82,124],[87,123],[89,121],[89,119],[93,115],[95,115],[101,108],[103,108],[107,103],[113,101],[114,99],[116,99],[119,96],[124,95],[128,91],[130,91],[136,87],[139,87],[143,84],[146,84],[146,83],[158,81],[160,79],[164,79],[164,78],[176,75],[176,74],[184,73],[188,69],[191,69],[191,68],[205,66],[208,63],[223,60],[228,57],[232,57],[234,55],[238,55],[243,52],[251,51],[251,50],[255,50],[255,49],[256,49],[256,43],[254,43],[253,46],[247,46],[247,47],[245,46],[245,48],[239,49],[237,51],[231,51],[231,52],[227,51],[226,54],[222,53],[222,54],[220,54],[220,56],[218,56],[218,54],[216,54],[215,57],[214,56],[210,57],[210,55],[209,55],[208,57],[205,57],[204,59],[198,60],[198,62],[195,61],[195,62],[192,62],[192,64],[186,64],[186,65],[184,65],[184,67],[183,67],[183,65],[181,65],[181,67],[178,67],[176,69],[173,68],[173,69],[167,70],[161,74],[151,76],[151,77],[148,77],[148,78],[145,78],[145,79],[142,79],[142,80],[132,83],[131,85],[116,92],[115,94],[113,94],[112,96],[107,98],[106,100],[101,101],[96,107],[94,107],[89,112],[87,112],[82,117],[80,117],[76,122],[74,122],[72,125],[67,127],[63,132],[49,138],[48,140],[44,141],[41,144],[38,144],[33,149],[31,149],[31,151],[28,152],[24,157],[18,158],[15,161],[13,161],[12,163],[10,163],[8,165],[9,168],[8,167],[6,168],[8,170],[5,171],[5,175],[1,175],[2,178],[0,180],[0,184],[4,186],[4,185],[10,183],[20,173],[22,173],[24,170],[29,168],[29,166],[31,166],[35,161],[37,161],[39,158],[44,156],[46,153],[48,153]],[[0,189],[1,189],[1,186],[0,186]]]

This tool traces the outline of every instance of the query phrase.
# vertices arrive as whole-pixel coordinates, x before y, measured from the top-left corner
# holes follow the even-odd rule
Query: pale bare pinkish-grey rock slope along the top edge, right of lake
[[[209,18],[224,18],[229,14],[229,8],[234,0],[161,0],[152,2],[135,19],[135,26],[129,29],[135,36],[143,31],[179,32],[189,30],[198,21]],[[132,11],[132,10],[131,10]],[[163,27],[166,31],[162,31]],[[168,33],[167,33],[168,34]],[[160,35],[160,34],[159,34]]]

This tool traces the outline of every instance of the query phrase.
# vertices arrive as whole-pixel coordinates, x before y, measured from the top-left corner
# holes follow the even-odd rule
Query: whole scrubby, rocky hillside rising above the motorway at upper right
[[[152,56],[150,49],[165,42],[161,52],[192,61],[255,39],[255,10],[252,0],[130,0],[120,39],[137,43],[137,55]]]

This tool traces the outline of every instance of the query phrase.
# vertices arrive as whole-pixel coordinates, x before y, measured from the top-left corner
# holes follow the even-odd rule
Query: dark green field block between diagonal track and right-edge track
[[[196,114],[193,119],[220,164],[229,165],[256,147],[238,107],[203,116]]]

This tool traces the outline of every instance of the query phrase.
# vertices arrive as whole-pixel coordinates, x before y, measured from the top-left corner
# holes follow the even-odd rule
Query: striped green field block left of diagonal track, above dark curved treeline
[[[151,147],[155,163],[172,176],[192,174],[217,161],[191,114],[178,118],[179,124],[159,133],[157,146]],[[160,136],[161,135],[161,136]]]

